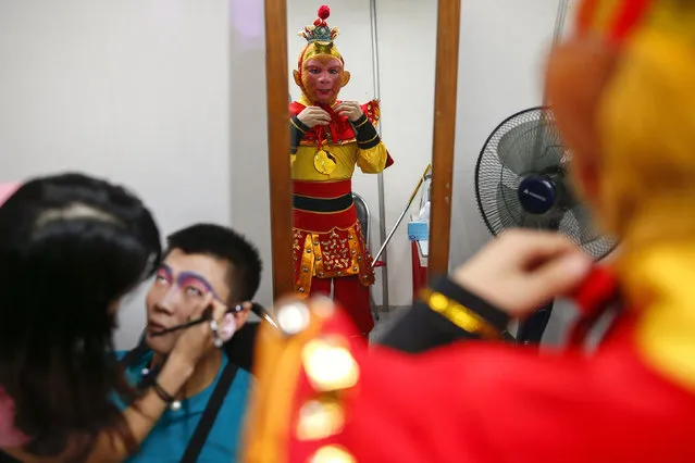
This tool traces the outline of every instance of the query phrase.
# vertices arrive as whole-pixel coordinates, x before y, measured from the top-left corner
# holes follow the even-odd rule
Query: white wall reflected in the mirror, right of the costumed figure
[[[395,160],[384,174],[388,233],[432,162],[437,2],[377,0],[376,18],[382,135]],[[419,204],[418,196],[388,245],[388,303],[392,306],[412,303],[408,221],[418,212]]]

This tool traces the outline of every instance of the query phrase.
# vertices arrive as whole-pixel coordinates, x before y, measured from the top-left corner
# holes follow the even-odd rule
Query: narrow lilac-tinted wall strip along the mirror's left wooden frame
[[[199,0],[188,1],[200,3]],[[229,92],[229,98],[224,100],[224,104],[229,108],[225,129],[231,139],[232,226],[246,234],[259,248],[264,270],[257,300],[270,306],[273,302],[273,273],[263,1],[228,0],[225,13],[229,20],[225,24],[228,45],[225,55],[219,59],[228,78],[224,91]]]

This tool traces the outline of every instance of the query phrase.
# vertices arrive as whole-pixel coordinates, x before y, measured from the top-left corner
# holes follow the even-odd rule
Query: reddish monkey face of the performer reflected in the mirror
[[[303,65],[301,83],[311,101],[331,105],[346,84],[343,63],[331,55],[313,57]]]

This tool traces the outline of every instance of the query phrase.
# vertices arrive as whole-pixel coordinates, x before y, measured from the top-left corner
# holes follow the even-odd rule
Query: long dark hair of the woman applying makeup
[[[27,452],[62,454],[70,436],[70,454],[78,442],[84,455],[102,428],[129,436],[112,402],[129,397],[115,312],[160,260],[151,213],[108,182],[36,178],[0,205],[0,387]]]

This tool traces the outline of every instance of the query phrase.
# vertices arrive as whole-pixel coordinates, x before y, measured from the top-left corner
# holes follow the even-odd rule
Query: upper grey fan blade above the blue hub
[[[563,154],[557,128],[543,118],[520,123],[497,143],[499,162],[517,175],[560,165]]]

